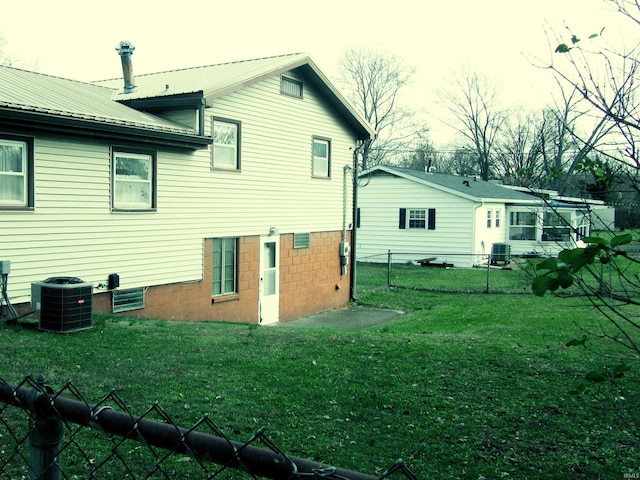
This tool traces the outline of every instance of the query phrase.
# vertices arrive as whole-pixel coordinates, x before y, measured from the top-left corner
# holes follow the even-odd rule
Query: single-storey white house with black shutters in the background
[[[372,168],[360,175],[356,257],[386,262],[391,251],[395,262],[471,266],[503,245],[511,255],[582,245],[591,203],[538,195],[474,177]]]

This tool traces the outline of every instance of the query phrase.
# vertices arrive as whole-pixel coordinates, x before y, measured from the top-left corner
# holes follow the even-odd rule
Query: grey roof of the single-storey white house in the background
[[[526,193],[510,190],[486,180],[475,177],[447,175],[444,173],[424,172],[408,168],[378,166],[362,173],[366,175],[395,175],[430,185],[440,190],[466,197],[474,201],[499,201],[504,203],[540,203],[540,199]]]

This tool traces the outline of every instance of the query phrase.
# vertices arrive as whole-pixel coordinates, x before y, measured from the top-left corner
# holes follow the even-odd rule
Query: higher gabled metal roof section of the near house
[[[113,98],[119,102],[202,92],[207,105],[211,105],[215,98],[291,70],[297,70],[309,79],[329,104],[358,133],[359,139],[375,137],[373,128],[338,92],[306,53],[135,75],[136,88],[128,92],[124,90],[124,80],[121,77],[95,83],[115,89]]]

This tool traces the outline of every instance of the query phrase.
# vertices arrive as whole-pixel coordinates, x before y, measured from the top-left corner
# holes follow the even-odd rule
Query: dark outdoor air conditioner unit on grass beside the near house
[[[93,326],[93,285],[75,277],[31,284],[31,306],[39,310],[38,330],[66,333]]]

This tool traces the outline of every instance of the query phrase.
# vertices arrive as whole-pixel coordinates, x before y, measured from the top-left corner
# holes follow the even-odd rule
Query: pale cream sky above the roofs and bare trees
[[[335,78],[346,49],[371,47],[416,68],[403,99],[437,136],[437,92],[463,66],[510,102],[544,102],[550,73],[532,61],[549,57],[545,29],[564,25],[584,37],[628,25],[637,40],[605,0],[4,0],[0,36],[14,66],[86,81],[121,75],[121,40],[136,47],[135,75],[307,52]]]

